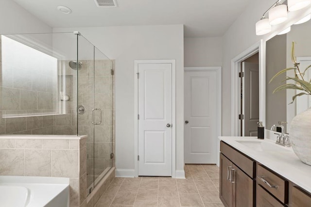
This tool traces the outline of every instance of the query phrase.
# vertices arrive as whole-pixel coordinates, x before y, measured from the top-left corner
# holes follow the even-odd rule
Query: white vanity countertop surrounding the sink
[[[237,141],[261,142],[257,137],[219,137],[219,139],[311,193],[311,166],[302,163],[292,147],[281,146],[275,141],[264,139],[262,142],[273,143],[285,150],[255,151]]]

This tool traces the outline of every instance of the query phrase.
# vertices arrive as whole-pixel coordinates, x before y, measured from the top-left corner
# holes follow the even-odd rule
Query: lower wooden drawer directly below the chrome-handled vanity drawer
[[[257,185],[256,207],[284,207],[278,200]]]

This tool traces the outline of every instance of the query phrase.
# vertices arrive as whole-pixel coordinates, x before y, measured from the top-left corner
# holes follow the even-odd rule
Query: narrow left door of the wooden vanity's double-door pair
[[[225,207],[232,207],[232,183],[228,179],[232,162],[220,153],[220,190],[219,197]]]

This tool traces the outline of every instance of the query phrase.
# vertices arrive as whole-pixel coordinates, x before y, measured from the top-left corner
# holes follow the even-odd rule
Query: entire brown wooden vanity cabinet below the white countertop
[[[311,207],[311,193],[220,143],[220,191],[225,207]]]

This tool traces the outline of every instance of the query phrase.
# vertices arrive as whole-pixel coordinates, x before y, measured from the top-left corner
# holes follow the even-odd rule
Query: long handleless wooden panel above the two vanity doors
[[[220,151],[234,164],[239,166],[239,168],[241,168],[248,176],[255,178],[256,172],[254,168],[256,163],[252,159],[242,155],[241,152],[235,150],[224,142],[220,143]]]

